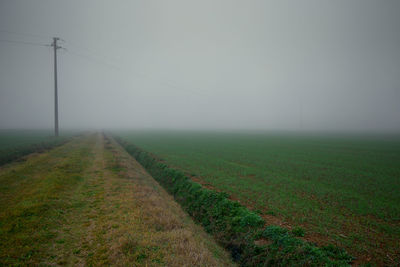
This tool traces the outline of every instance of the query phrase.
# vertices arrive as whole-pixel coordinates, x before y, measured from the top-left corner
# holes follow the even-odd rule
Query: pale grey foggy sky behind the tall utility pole
[[[400,1],[0,0],[0,128],[400,131]],[[18,41],[25,43],[11,43]]]

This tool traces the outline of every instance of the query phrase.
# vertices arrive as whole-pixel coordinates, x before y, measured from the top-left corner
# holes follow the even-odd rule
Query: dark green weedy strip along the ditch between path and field
[[[205,188],[134,144],[118,136],[114,139],[195,222],[230,251],[239,265],[349,266],[352,263],[353,257],[345,250],[304,241],[302,229],[290,231],[280,226],[266,226],[260,215],[229,199],[228,194]]]

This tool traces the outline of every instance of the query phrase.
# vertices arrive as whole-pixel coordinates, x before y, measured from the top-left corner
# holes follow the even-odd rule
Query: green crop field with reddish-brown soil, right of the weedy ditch
[[[398,137],[125,131],[124,140],[267,223],[333,243],[356,263],[400,260]]]

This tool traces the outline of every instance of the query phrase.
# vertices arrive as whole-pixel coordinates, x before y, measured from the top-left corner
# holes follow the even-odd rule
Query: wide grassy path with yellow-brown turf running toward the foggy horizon
[[[229,256],[113,140],[0,168],[0,265],[221,266]]]

